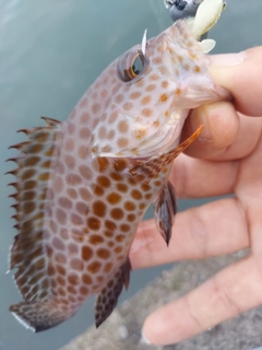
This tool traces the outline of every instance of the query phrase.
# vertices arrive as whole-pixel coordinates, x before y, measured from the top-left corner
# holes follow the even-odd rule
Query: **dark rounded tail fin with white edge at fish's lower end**
[[[67,305],[53,300],[22,302],[11,305],[9,310],[24,327],[35,332],[55,327],[74,314]]]

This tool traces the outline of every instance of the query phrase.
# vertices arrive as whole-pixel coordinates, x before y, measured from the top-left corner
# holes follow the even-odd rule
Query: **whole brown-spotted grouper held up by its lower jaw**
[[[180,141],[190,112],[229,98],[209,74],[184,20],[132,47],[110,63],[64,121],[21,129],[15,188],[17,234],[10,270],[23,301],[10,312],[41,331],[72,317],[96,295],[98,327],[128,289],[129,250],[154,202],[157,230],[168,245],[176,195],[174,160],[200,135]]]

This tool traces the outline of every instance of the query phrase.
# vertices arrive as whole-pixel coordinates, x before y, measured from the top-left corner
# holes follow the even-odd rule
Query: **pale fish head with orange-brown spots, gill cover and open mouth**
[[[93,155],[150,158],[177,145],[191,108],[228,97],[209,66],[183,20],[150,40],[144,34],[110,68],[117,83],[93,130]],[[105,138],[103,128],[114,137]]]

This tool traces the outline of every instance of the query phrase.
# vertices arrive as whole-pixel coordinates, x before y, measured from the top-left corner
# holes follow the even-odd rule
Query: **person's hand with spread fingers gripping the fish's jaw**
[[[193,337],[262,304],[262,47],[212,58],[211,73],[233,102],[194,109],[183,137],[201,124],[199,139],[179,155],[170,174],[179,198],[234,194],[176,215],[169,246],[154,220],[141,223],[130,258],[133,268],[201,259],[250,248],[187,295],[156,310],[144,323],[152,343]]]

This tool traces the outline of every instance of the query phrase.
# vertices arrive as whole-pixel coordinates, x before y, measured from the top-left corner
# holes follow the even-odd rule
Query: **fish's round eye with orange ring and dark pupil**
[[[127,52],[118,61],[117,73],[123,82],[130,82],[138,79],[145,72],[148,67],[147,58],[141,50]]]

